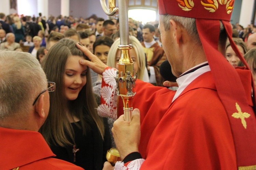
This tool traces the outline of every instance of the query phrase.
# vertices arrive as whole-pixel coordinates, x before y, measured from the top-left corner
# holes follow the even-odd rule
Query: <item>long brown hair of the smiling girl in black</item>
[[[87,82],[78,97],[74,101],[67,101],[65,97],[65,67],[68,57],[72,55],[86,59],[73,40],[63,39],[48,51],[42,63],[47,79],[56,83],[56,91],[50,94],[49,115],[39,131],[48,144],[58,144],[60,146],[74,144],[74,131],[66,115],[67,111],[71,113],[72,117],[75,116],[80,119],[83,134],[90,128],[88,121],[94,121],[102,139],[104,136],[103,121],[95,109],[97,103],[92,91],[89,69],[86,73]]]

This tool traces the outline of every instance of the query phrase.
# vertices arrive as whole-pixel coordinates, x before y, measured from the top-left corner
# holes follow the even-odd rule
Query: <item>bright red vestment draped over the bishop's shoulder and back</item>
[[[239,74],[247,75],[246,78],[250,76],[248,72],[240,70]],[[247,99],[252,104],[250,83],[243,82]],[[139,151],[145,158],[142,170],[237,169],[238,157],[231,127],[211,72],[204,73],[190,83],[172,104],[167,93],[151,99],[153,103],[140,102],[137,106],[148,108],[141,120]],[[168,109],[159,112],[159,108]],[[241,120],[237,121],[240,128],[234,130],[244,133]],[[246,122],[246,130],[255,134],[255,116],[251,115]],[[248,138],[243,140],[244,144],[249,146],[246,152],[255,152],[255,142],[252,143]],[[251,159],[255,159],[255,156]]]

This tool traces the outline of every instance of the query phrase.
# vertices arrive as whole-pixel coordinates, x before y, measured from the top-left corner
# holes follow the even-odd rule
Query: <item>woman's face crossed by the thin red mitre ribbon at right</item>
[[[246,44],[240,38],[233,38],[233,41],[237,45],[242,56],[244,56],[245,53],[248,51]],[[237,67],[237,65],[240,61],[240,59],[236,55],[236,52],[234,52],[234,50],[230,46],[229,41],[227,42],[227,45],[226,45],[226,58],[227,58],[228,62],[234,67]]]

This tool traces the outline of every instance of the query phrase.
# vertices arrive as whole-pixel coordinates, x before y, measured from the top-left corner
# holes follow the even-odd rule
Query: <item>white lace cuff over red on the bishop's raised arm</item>
[[[101,104],[97,108],[101,117],[117,119],[117,94],[116,94],[116,71],[115,68],[105,69],[102,75],[102,81],[106,86],[101,88]],[[103,99],[103,101],[102,101]]]

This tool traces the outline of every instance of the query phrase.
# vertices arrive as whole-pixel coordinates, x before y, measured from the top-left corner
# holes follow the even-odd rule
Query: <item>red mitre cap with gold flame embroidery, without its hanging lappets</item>
[[[159,14],[230,21],[234,0],[222,2],[223,4],[219,3],[220,0],[216,0],[216,3],[212,0],[193,0],[193,3],[189,3],[189,1],[158,0]]]

